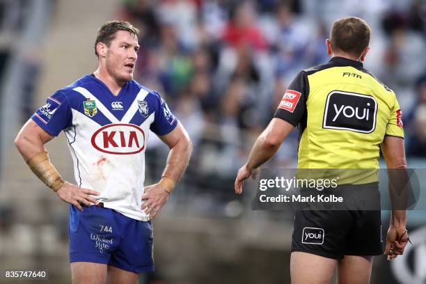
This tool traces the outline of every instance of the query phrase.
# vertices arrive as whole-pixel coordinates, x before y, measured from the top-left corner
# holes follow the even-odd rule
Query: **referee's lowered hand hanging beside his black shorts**
[[[408,242],[409,236],[405,226],[390,226],[386,236],[386,250],[384,252],[388,260],[393,260],[398,255],[402,255]]]

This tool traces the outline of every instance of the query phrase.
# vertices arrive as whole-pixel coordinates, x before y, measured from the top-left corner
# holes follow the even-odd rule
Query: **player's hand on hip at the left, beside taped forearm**
[[[97,204],[97,200],[92,196],[100,195],[97,191],[92,189],[83,189],[81,187],[77,187],[75,184],[70,184],[69,182],[65,182],[63,186],[56,191],[56,194],[66,203],[74,205],[80,211],[83,211],[83,207],[81,207],[81,205],[90,206],[90,202]]]

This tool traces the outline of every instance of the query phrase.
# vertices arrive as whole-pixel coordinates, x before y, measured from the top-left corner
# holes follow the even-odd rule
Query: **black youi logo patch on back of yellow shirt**
[[[322,127],[371,133],[376,116],[377,101],[371,95],[333,90],[327,97]]]

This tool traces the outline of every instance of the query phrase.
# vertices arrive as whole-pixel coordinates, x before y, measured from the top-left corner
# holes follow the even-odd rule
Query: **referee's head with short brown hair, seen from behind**
[[[360,56],[370,43],[370,26],[358,17],[338,19],[331,26],[330,41],[335,51]]]

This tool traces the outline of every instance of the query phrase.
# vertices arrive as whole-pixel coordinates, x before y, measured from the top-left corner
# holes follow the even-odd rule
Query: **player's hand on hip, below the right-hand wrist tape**
[[[141,209],[150,216],[150,219],[154,219],[167,199],[168,192],[160,184],[148,185],[148,187],[145,187],[145,194],[142,196]]]

